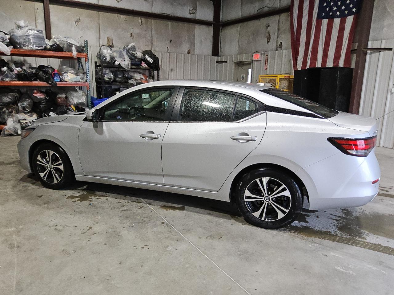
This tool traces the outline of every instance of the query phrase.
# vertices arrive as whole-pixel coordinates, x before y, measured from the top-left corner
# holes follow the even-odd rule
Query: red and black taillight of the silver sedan
[[[357,157],[366,157],[376,145],[376,136],[367,138],[327,138],[342,153]]]

